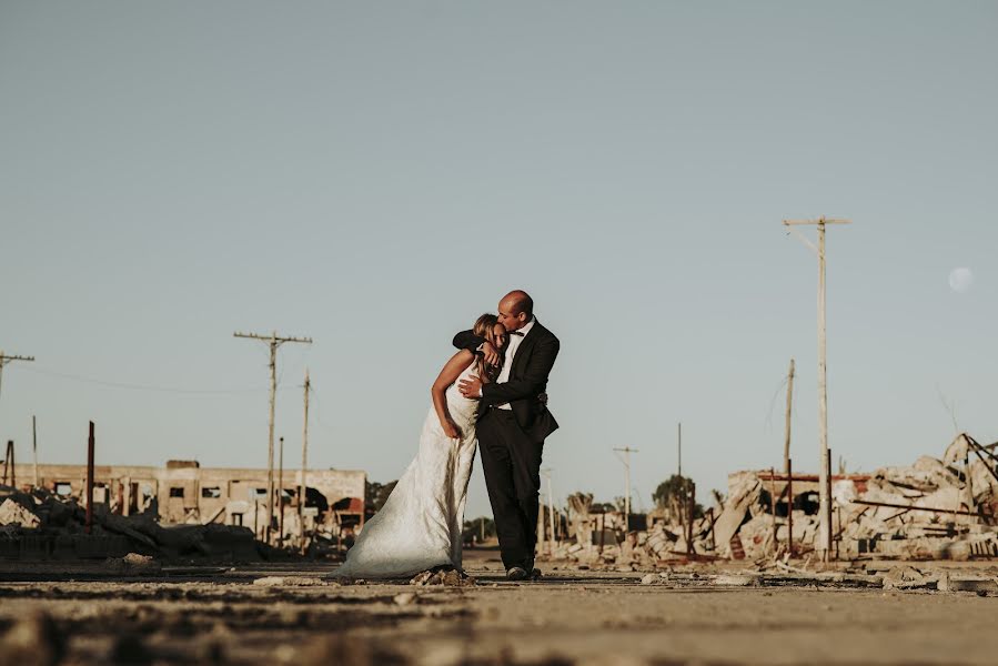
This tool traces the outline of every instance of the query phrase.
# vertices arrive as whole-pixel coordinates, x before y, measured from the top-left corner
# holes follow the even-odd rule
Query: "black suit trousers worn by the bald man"
[[[544,443],[524,433],[512,411],[494,407],[478,418],[477,435],[503,564],[531,567]]]

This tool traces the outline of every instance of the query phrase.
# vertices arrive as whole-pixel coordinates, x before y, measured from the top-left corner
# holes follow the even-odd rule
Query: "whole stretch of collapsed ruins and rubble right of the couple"
[[[940,458],[871,474],[833,474],[834,559],[957,559],[998,556],[998,443],[958,435]],[[736,472],[728,493],[702,517],[693,512],[624,529],[622,516],[591,509],[592,496],[569,497],[569,541],[554,558],[579,563],[775,559],[820,548],[818,476]],[[675,514],[675,512],[673,512]],[[645,516],[642,516],[645,517]],[[632,516],[632,525],[634,516]],[[574,542],[574,543],[573,543]]]

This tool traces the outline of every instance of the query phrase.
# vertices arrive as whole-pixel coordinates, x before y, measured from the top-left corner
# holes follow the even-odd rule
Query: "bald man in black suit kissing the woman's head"
[[[506,577],[522,581],[534,575],[544,438],[558,427],[540,396],[561,343],[534,319],[534,301],[524,291],[503,296],[498,321],[508,335],[498,379],[483,384],[471,377],[458,389],[465,397],[482,401],[477,434],[488,501]],[[458,333],[454,346],[483,353],[486,361],[498,357],[492,345],[471,331]]]

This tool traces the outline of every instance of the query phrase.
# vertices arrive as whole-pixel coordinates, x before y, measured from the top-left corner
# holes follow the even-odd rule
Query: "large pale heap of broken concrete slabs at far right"
[[[958,559],[998,555],[998,457],[960,434],[941,460],[870,475],[833,475],[833,535],[839,557]],[[820,544],[817,485],[795,476],[794,553]],[[758,559],[787,552],[786,478],[763,472],[732,476],[729,498],[714,525],[717,554]],[[773,507],[779,506],[776,515]],[[733,527],[734,526],[734,527]],[[743,555],[744,553],[744,555]]]

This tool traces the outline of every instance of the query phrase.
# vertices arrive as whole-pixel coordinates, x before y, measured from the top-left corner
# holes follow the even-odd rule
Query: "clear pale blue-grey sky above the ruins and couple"
[[[29,458],[395,478],[454,331],[528,290],[562,340],[556,495],[635,506],[998,440],[994,2],[0,3],[0,437]],[[974,284],[950,289],[958,266]],[[72,377],[82,377],[87,382]],[[111,386],[94,381],[171,391]],[[182,391],[191,393],[184,393]],[[196,393],[196,392],[221,393]],[[285,461],[285,462],[286,462]],[[468,514],[487,513],[481,472]]]

